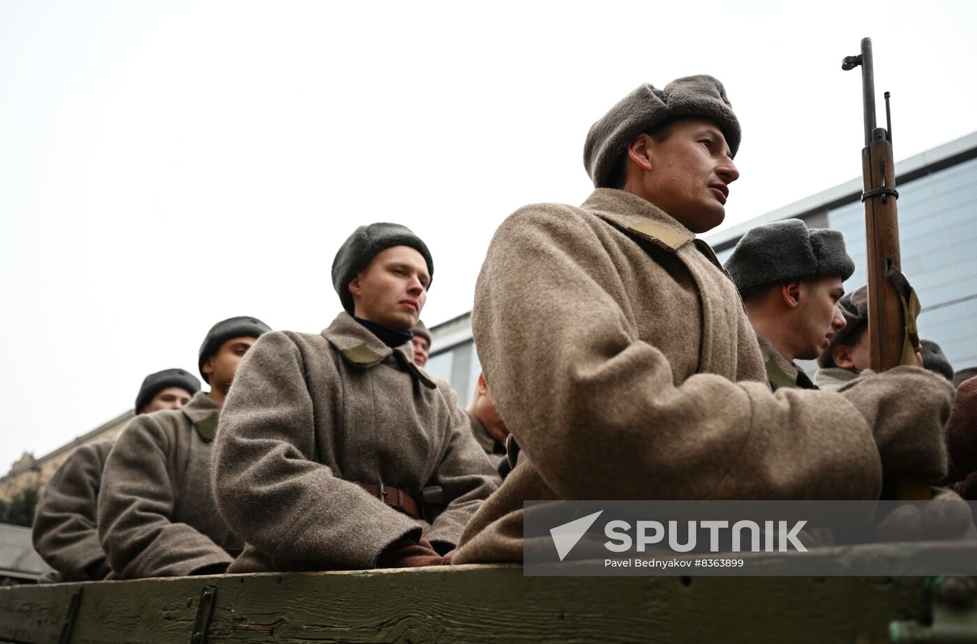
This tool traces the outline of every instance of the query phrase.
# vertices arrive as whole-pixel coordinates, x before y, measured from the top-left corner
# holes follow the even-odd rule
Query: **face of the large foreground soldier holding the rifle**
[[[693,233],[726,217],[729,184],[740,178],[722,130],[712,121],[684,118],[661,141],[650,138],[651,171],[644,173],[652,203]]]

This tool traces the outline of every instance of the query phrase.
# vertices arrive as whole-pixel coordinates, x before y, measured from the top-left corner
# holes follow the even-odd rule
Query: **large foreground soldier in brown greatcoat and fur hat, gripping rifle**
[[[472,328],[522,451],[453,564],[522,560],[530,499],[875,499],[883,473],[943,475],[941,376],[770,391],[736,285],[697,238],[723,220],[740,138],[715,78],[642,85],[587,136],[582,206],[499,227]]]

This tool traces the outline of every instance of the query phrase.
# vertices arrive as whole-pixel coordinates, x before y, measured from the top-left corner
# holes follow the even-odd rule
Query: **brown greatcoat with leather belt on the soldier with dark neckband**
[[[229,572],[375,568],[402,537],[455,546],[499,479],[455,393],[412,355],[345,312],[320,334],[258,339],[217,440],[218,507],[248,544]],[[448,504],[429,525],[354,482],[406,494],[439,485]]]

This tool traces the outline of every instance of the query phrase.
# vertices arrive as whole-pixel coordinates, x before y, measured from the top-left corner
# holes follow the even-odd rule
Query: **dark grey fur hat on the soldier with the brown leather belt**
[[[370,260],[380,252],[394,246],[410,246],[423,257],[428,265],[428,276],[434,279],[434,260],[427,244],[419,236],[414,235],[409,228],[400,224],[377,223],[361,226],[353,231],[353,235],[343,242],[332,260],[332,287],[339,294],[343,308],[353,315],[353,294],[349,285],[357,277]],[[431,282],[428,282],[431,288]]]

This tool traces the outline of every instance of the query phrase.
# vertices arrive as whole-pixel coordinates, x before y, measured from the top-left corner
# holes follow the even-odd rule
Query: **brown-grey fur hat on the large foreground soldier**
[[[714,121],[726,137],[730,155],[736,156],[740,121],[722,83],[705,74],[676,78],[663,90],[645,83],[590,126],[583,144],[583,166],[594,188],[610,188],[617,159],[639,134],[680,118]]]

